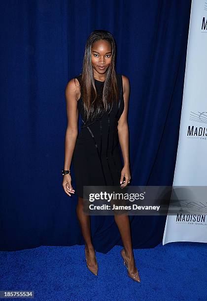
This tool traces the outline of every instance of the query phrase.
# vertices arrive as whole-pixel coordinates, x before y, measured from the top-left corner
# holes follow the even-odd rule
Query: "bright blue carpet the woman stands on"
[[[98,276],[86,267],[83,245],[0,252],[0,290],[33,290],[38,301],[207,301],[207,244],[134,250],[141,283],[127,276],[121,249],[96,253]]]

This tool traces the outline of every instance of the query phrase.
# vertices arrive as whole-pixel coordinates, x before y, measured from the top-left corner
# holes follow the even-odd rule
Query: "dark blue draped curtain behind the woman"
[[[172,185],[190,0],[4,0],[1,12],[0,250],[83,244],[77,196],[62,187],[65,88],[95,29],[117,44],[131,84],[132,185]],[[79,120],[79,125],[80,125]],[[75,188],[73,167],[72,184]],[[162,241],[166,216],[130,216],[134,248]],[[113,216],[91,216],[97,251],[122,245]]]

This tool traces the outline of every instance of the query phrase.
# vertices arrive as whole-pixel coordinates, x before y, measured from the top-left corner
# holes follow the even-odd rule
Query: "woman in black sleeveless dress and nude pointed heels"
[[[93,31],[86,42],[82,74],[71,79],[66,87],[68,127],[62,184],[69,196],[75,193],[69,171],[73,158],[78,195],[76,213],[85,241],[87,267],[95,275],[98,273],[98,263],[91,240],[90,216],[83,212],[83,186],[119,185],[124,188],[130,182],[129,92],[128,78],[115,72],[113,36],[105,30]],[[78,113],[83,121],[79,134]],[[129,217],[114,215],[114,219],[123,241],[121,256],[128,275],[140,282],[132,249]]]

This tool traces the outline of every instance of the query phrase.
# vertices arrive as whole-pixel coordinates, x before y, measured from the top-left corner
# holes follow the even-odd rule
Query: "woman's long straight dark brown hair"
[[[91,63],[91,48],[98,40],[107,40],[111,45],[111,62],[106,71],[102,97],[97,93],[93,67]],[[115,40],[112,34],[106,30],[94,30],[87,38],[85,54],[81,73],[81,95],[84,107],[85,121],[95,120],[101,117],[104,112],[111,111],[113,100],[118,101],[118,86],[115,71]]]

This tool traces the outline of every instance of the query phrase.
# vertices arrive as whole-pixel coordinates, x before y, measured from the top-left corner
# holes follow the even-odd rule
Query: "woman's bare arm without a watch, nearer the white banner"
[[[129,128],[128,128],[128,107],[129,107],[129,94],[130,94],[130,83],[129,79],[122,75],[123,81],[123,96],[124,96],[124,111],[118,120],[118,136],[119,136],[119,143],[122,151],[122,156],[124,160],[124,168],[122,170],[121,180],[120,183],[123,181],[123,177],[125,177],[125,184],[128,184],[128,181],[131,179],[130,175],[130,160],[129,160]]]

